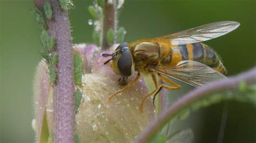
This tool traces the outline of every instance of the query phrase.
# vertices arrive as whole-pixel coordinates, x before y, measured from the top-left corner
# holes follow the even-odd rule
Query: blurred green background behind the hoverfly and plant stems
[[[40,60],[39,27],[30,13],[32,0],[0,0],[0,142],[33,142],[33,76]],[[73,0],[70,10],[74,43],[92,43],[91,18],[87,11],[92,1]],[[199,25],[234,20],[240,27],[221,38],[206,41],[219,53],[228,75],[255,65],[255,0],[126,0],[119,25],[127,30],[125,40],[159,37]],[[182,91],[177,91],[182,92]],[[231,102],[224,142],[255,142],[256,111],[253,106]],[[201,109],[197,142],[216,142],[223,104]],[[193,114],[193,113],[192,113]],[[192,117],[191,117],[192,118]],[[188,121],[190,117],[188,117]],[[199,133],[199,134],[198,134]]]

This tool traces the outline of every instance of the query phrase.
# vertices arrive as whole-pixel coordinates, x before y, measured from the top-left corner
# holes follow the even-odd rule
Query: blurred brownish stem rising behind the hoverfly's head
[[[114,35],[116,35],[117,31],[117,10],[116,10],[116,0],[112,0],[112,3],[109,3],[108,0],[105,0],[105,8],[104,8],[104,25],[103,25],[103,49],[106,50],[111,45],[107,44],[106,33],[110,28],[113,28]],[[116,41],[116,38],[113,42]]]

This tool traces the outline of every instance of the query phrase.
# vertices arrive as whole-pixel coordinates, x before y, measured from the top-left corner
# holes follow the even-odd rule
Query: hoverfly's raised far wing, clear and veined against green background
[[[178,33],[165,35],[159,39],[170,39],[172,45],[184,45],[194,42],[207,41],[213,38],[225,35],[237,28],[240,24],[238,22],[217,22],[210,23]]]

